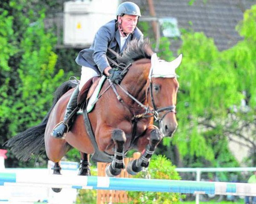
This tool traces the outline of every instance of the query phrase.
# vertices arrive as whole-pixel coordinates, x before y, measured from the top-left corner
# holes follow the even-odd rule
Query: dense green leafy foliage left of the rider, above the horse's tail
[[[64,77],[63,70],[55,71],[56,38],[44,29],[44,10],[37,13],[23,0],[2,4],[0,144],[41,121]]]

